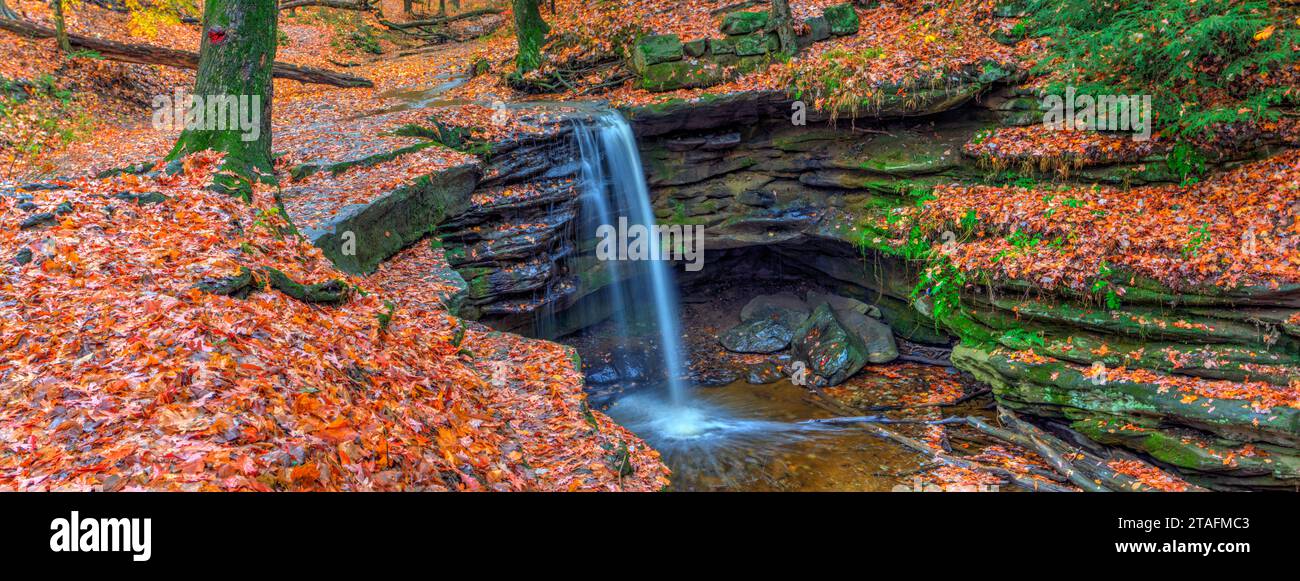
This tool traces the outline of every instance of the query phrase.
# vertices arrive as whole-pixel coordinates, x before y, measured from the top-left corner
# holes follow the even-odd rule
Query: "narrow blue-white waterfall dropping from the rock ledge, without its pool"
[[[662,248],[650,205],[650,190],[641,169],[641,153],[628,122],[615,110],[599,110],[590,120],[576,121],[575,134],[585,188],[582,222],[614,226],[619,218],[627,218],[629,225],[646,226],[651,247]],[[584,234],[588,234],[586,229]],[[684,350],[677,286],[670,265],[662,260],[607,260],[604,268],[610,279],[615,281],[610,289],[610,300],[615,311],[615,325],[623,337],[629,333],[628,308],[653,309],[668,393],[672,403],[681,404],[685,400]]]

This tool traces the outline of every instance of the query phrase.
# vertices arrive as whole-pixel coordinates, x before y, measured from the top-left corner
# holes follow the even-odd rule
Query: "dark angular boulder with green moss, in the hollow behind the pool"
[[[818,386],[840,385],[868,361],[866,344],[836,318],[829,304],[812,311],[794,331],[792,347]]]

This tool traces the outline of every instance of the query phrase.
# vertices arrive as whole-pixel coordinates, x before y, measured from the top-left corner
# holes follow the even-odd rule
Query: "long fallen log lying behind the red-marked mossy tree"
[[[29,38],[55,38],[55,31],[30,21],[0,18],[0,30],[8,30]],[[199,53],[190,51],[177,51],[174,48],[153,47],[148,44],[126,44],[114,40],[69,34],[68,42],[77,48],[95,51],[110,61],[134,62],[139,65],[162,65],[179,69],[199,69]],[[270,69],[272,77],[298,81],[313,84],[329,84],[334,87],[373,87],[369,79],[350,74],[335,73],[333,70],[317,69],[315,66],[290,65],[287,62],[274,62]]]

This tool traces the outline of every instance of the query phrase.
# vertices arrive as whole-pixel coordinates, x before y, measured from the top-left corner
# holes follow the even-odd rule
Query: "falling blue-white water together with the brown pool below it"
[[[663,250],[632,127],[618,112],[595,110],[575,121],[575,139],[584,188],[578,239],[595,239],[599,227],[608,231],[625,221],[627,227],[645,229],[650,248]],[[621,259],[602,260],[603,277],[611,281],[602,290],[612,309],[610,322],[625,342],[644,334],[638,315],[653,313],[666,385],[663,390],[646,386],[621,395],[606,411],[663,454],[675,473],[673,486],[800,489],[805,485],[796,474],[820,472],[810,468],[810,463],[822,461],[815,459],[835,461],[850,450],[885,458],[879,452],[885,445],[867,433],[802,421],[824,412],[806,403],[797,387],[745,385],[688,391],[672,270],[663,260]],[[840,464],[827,471],[854,487],[881,487],[875,481],[858,485],[863,477],[842,473]]]

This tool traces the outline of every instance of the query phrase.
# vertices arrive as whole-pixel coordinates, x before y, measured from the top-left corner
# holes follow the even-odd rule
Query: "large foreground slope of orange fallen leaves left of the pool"
[[[441,263],[428,244],[372,278],[343,277],[281,234],[269,192],[250,207],[204,190],[214,161],[17,192],[30,209],[14,192],[0,199],[0,487],[667,482],[656,452],[585,408],[567,350],[448,316],[445,286],[420,278]],[[195,289],[260,266],[355,290],[343,305],[320,305],[274,290],[240,299]]]

